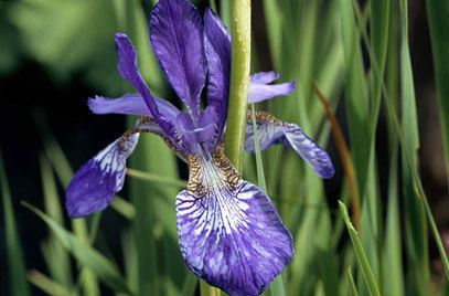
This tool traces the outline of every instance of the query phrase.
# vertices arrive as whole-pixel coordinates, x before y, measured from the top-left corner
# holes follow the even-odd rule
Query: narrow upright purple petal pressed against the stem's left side
[[[204,46],[207,61],[207,105],[218,116],[218,139],[226,123],[231,76],[231,35],[220,18],[211,10],[204,13]],[[213,145],[217,145],[217,141]]]

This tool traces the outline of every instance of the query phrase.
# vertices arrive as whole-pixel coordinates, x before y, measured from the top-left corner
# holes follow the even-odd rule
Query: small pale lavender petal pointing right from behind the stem
[[[286,96],[296,89],[295,82],[269,84],[279,75],[275,72],[259,72],[252,75],[248,103],[258,103],[275,96]]]

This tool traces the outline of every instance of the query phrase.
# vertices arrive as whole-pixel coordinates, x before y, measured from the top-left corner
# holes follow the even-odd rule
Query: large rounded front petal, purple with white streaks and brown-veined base
[[[210,160],[190,157],[177,218],[188,266],[231,295],[259,295],[293,256],[291,235],[268,197],[239,178],[221,148]]]

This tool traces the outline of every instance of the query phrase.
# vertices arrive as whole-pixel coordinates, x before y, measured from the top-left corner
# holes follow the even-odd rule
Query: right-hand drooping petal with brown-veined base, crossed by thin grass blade
[[[275,144],[291,146],[324,179],[332,178],[334,168],[328,154],[296,124],[282,123],[268,113],[256,113],[260,150]],[[254,152],[253,121],[246,125],[245,150]]]

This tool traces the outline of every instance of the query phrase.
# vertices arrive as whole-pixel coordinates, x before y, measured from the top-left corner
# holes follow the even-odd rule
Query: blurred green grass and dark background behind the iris
[[[151,89],[179,105],[148,44],[153,2],[0,1],[1,295],[200,295],[175,231],[186,166],[159,138],[142,137],[137,171],[103,213],[70,221],[62,207],[73,171],[133,121],[86,104],[131,91],[116,71],[115,32],[131,36]],[[229,23],[231,1],[193,2]],[[253,72],[298,84],[256,107],[300,124],[336,168],[322,181],[289,149],[263,154],[296,247],[281,288],[266,295],[447,295],[449,1],[253,1],[252,32]],[[244,163],[257,183],[260,167],[249,155]]]

